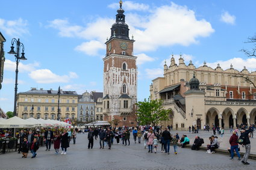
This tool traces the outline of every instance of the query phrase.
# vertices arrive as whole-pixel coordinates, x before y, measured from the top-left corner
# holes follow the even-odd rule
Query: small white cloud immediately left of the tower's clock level
[[[92,40],[89,42],[84,42],[79,46],[75,47],[75,50],[84,52],[87,55],[98,55],[100,49],[105,49],[104,43],[100,41]]]

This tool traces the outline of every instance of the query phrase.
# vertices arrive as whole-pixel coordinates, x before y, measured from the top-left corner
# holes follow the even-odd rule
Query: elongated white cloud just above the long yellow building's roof
[[[34,79],[37,83],[60,83],[60,82],[69,82],[70,79],[78,77],[76,73],[70,72],[69,75],[57,75],[52,73],[48,69],[40,69],[31,71],[29,74],[31,79]]]

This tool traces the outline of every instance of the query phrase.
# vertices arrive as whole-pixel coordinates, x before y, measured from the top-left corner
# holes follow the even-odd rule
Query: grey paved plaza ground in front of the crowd
[[[67,155],[55,155],[54,150],[39,148],[37,157],[21,158],[16,152],[0,155],[0,169],[255,169],[256,161],[249,160],[250,165],[243,165],[237,159],[229,160],[222,154],[207,154],[204,151],[192,151],[178,148],[178,154],[170,155],[160,152],[148,153],[143,144],[130,146],[114,145],[111,150],[99,149],[99,140],[94,141],[93,149],[87,149],[87,133],[77,135],[76,144],[70,142]],[[53,147],[53,145],[52,145]]]

